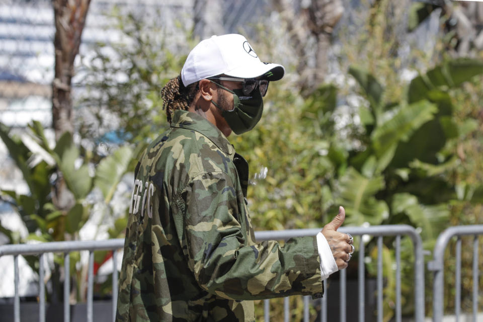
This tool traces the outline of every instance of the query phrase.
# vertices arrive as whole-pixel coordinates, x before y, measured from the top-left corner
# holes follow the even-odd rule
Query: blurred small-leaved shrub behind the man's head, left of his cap
[[[119,41],[96,43],[91,47],[95,53],[82,57],[79,67],[79,85],[87,89],[77,98],[79,134],[96,144],[110,137],[134,143],[153,139],[168,126],[161,89],[186,59],[176,51],[186,53],[194,43],[181,23],[147,26],[142,12],[125,14],[117,8],[109,18],[113,24],[107,28],[120,33]],[[186,34],[186,41],[175,49],[169,40],[180,34]]]

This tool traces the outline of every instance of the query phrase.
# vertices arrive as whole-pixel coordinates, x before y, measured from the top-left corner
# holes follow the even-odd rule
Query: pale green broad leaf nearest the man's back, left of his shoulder
[[[94,185],[101,189],[106,203],[110,202],[122,176],[129,170],[132,157],[132,150],[128,146],[123,146],[99,163]]]

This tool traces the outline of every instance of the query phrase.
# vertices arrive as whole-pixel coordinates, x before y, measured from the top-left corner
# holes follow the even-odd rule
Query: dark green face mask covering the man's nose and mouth
[[[260,121],[263,113],[263,99],[260,91],[255,89],[250,93],[252,96],[247,96],[243,94],[241,89],[232,91],[217,83],[214,84],[233,94],[233,109],[231,111],[224,110],[211,101],[221,111],[221,115],[225,118],[231,130],[236,134],[241,134],[253,129]]]

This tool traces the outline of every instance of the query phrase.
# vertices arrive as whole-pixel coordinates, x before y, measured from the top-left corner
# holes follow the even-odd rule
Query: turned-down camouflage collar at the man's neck
[[[171,127],[193,130],[209,138],[224,153],[232,155],[235,149],[218,128],[202,116],[183,110],[173,113]]]

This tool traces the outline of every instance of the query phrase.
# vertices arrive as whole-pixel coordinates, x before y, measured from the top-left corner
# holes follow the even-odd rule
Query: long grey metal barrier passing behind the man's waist
[[[262,240],[281,240],[288,239],[295,236],[313,236],[320,231],[320,228],[314,229],[292,229],[292,230],[277,230],[277,231],[257,231],[255,237],[258,241]],[[371,226],[371,227],[342,227],[339,231],[350,233],[353,236],[359,236],[359,244],[357,244],[359,253],[358,263],[358,286],[359,286],[359,321],[364,322],[364,257],[365,246],[362,240],[362,235],[377,236],[377,320],[382,321],[383,309],[382,309],[382,237],[383,236],[396,236],[395,242],[395,254],[396,254],[396,303],[395,303],[395,321],[401,321],[401,276],[400,276],[400,237],[411,237],[414,244],[414,270],[415,270],[415,321],[423,322],[424,320],[424,261],[423,261],[423,249],[420,235],[416,230],[409,225],[383,225],[383,226]],[[63,241],[36,245],[5,245],[0,246],[0,257],[4,255],[14,256],[15,266],[15,300],[14,300],[14,319],[15,322],[20,322],[20,297],[19,297],[19,269],[18,269],[18,256],[19,255],[38,255],[40,254],[40,267],[39,267],[39,320],[45,322],[45,286],[44,280],[44,267],[43,256],[45,253],[63,253],[64,254],[64,270],[65,270],[65,283],[64,283],[64,321],[70,321],[70,307],[68,296],[70,293],[69,285],[69,253],[74,251],[89,251],[89,274],[88,274],[88,293],[87,293],[87,319],[88,322],[93,320],[93,284],[94,284],[94,251],[99,250],[113,250],[113,319],[115,318],[116,305],[117,305],[117,282],[118,272],[116,269],[116,254],[115,252],[123,247],[124,239],[110,239],[110,240],[96,240],[96,241]],[[324,281],[326,286],[326,281]],[[346,321],[346,270],[341,271],[341,283],[340,283],[340,321]],[[309,320],[309,299],[310,296],[303,298],[304,303],[304,321]],[[327,296],[320,299],[321,301],[321,314],[320,320],[327,321]],[[270,319],[269,300],[264,301],[264,316],[265,321]],[[284,320],[290,319],[289,302],[288,297],[284,299]]]

